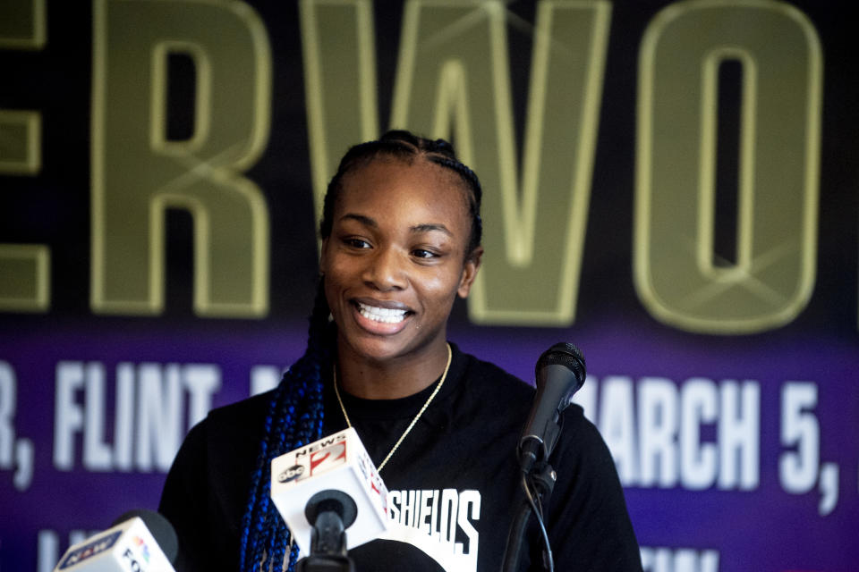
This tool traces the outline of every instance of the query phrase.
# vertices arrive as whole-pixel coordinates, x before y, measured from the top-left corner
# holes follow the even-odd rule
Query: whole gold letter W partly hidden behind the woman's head
[[[337,157],[378,133],[372,4],[301,5],[319,214]],[[484,257],[472,290],[475,322],[574,320],[610,7],[563,1],[538,7],[520,193],[504,3],[405,4],[390,125],[455,139],[489,189],[485,217],[498,221],[484,236],[495,254]]]

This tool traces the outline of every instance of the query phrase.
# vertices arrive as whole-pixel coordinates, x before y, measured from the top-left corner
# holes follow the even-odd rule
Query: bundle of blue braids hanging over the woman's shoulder
[[[280,570],[289,553],[287,568],[293,570],[298,548],[292,543],[283,518],[270,501],[271,459],[297,449],[323,435],[322,374],[330,364],[328,306],[321,282],[310,316],[307,351],[284,374],[268,406],[259,443],[257,467],[251,474],[251,491],[242,517],[240,563],[244,572]]]

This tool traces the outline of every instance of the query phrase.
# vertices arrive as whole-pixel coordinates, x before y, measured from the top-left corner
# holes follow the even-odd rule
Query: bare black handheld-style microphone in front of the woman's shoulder
[[[584,383],[584,356],[573,344],[559,342],[543,352],[534,374],[537,395],[519,439],[519,464],[526,474],[555,449],[561,412]]]

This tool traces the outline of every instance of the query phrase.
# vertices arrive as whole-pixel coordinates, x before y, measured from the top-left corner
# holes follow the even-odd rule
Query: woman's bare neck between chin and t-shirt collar
[[[447,343],[442,343],[418,355],[376,361],[355,355],[338,343],[337,383],[344,391],[365,400],[408,397],[425,390],[444,374],[447,351]]]

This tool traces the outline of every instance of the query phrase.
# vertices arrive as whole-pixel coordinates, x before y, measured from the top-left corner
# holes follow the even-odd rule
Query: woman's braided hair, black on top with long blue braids
[[[471,169],[459,162],[454,148],[446,140],[423,139],[405,130],[388,131],[378,140],[355,145],[346,152],[328,183],[319,224],[321,237],[327,239],[331,235],[344,176],[381,156],[408,164],[422,158],[460,176],[468,190],[466,199],[472,218],[466,249],[466,257],[470,256],[481,245],[481,182]],[[251,475],[251,490],[242,518],[240,563],[243,572],[281,570],[284,567],[293,572],[298,560],[298,547],[271,502],[269,467],[273,458],[323,436],[323,372],[330,371],[332,366],[336,339],[335,325],[329,324],[328,320],[330,309],[323,280],[319,281],[310,315],[307,349],[286,371],[268,404],[257,466]]]

